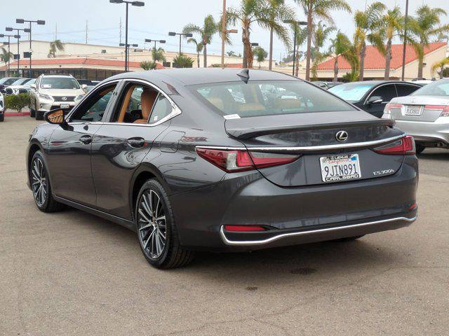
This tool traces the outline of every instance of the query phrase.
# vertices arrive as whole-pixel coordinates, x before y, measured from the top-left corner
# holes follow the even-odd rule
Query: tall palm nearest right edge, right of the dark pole
[[[449,25],[440,25],[441,16],[447,15],[443,8],[430,8],[427,5],[421,6],[416,10],[416,17],[410,18],[409,27],[413,34],[413,48],[418,55],[418,76],[422,78],[422,68],[424,65],[424,48],[430,43],[430,38],[444,34],[449,31]]]

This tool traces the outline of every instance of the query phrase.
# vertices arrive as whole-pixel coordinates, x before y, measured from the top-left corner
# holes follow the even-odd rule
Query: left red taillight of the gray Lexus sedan
[[[300,155],[290,154],[257,153],[246,150],[232,151],[209,148],[196,148],[196,153],[201,158],[208,160],[213,165],[228,173],[285,165],[300,157]]]

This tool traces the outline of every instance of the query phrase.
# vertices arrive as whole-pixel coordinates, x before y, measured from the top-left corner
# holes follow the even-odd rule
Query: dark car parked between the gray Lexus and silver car
[[[408,96],[421,87],[422,85],[409,82],[366,80],[330,87],[329,92],[336,94],[338,97],[377,118],[382,118],[385,105],[391,99]]]

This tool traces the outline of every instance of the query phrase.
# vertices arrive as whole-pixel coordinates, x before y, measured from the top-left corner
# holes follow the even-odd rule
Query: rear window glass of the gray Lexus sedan
[[[240,118],[277,114],[351,111],[354,107],[300,80],[254,80],[192,85],[202,102]]]

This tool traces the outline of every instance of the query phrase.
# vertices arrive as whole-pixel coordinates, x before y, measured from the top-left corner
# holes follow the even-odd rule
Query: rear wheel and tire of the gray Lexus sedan
[[[163,219],[158,221],[156,218]],[[135,204],[135,227],[140,250],[152,266],[170,269],[192,262],[194,252],[180,245],[170,200],[156,179],[149,179],[140,188]]]

